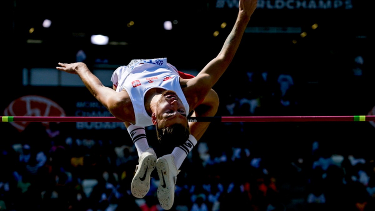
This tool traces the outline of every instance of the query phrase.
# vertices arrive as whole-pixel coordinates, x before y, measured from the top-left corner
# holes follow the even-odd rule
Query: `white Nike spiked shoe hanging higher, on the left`
[[[139,156],[138,165],[135,167],[135,174],[130,190],[133,196],[143,198],[150,190],[150,175],[156,167],[156,154],[152,148],[148,148]]]

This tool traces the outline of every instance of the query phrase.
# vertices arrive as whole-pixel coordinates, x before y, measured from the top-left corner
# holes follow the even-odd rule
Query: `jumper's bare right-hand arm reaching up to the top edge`
[[[210,91],[211,87],[219,80],[232,62],[240,45],[243,33],[250,21],[250,17],[257,8],[257,2],[257,0],[240,0],[236,23],[231,33],[226,38],[221,51],[195,78],[187,82],[187,87],[193,87],[193,90],[199,90],[198,93],[201,93],[203,97]],[[191,93],[193,91],[190,90],[189,92]]]

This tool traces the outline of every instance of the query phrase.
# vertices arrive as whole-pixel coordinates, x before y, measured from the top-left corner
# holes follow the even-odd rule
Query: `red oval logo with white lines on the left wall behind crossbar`
[[[4,116],[66,116],[60,105],[38,95],[27,95],[13,100],[4,110]],[[18,131],[23,131],[30,122],[9,122]],[[42,122],[48,128],[48,122]]]

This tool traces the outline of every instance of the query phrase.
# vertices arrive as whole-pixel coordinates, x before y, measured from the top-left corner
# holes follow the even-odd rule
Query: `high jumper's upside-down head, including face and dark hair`
[[[187,111],[174,91],[166,90],[161,94],[151,118],[159,142],[178,144],[189,138]]]

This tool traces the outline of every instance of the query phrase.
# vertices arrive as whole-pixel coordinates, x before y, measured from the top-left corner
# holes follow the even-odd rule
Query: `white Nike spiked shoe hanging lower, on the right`
[[[159,187],[157,199],[163,209],[171,209],[174,201],[174,189],[177,174],[180,172],[174,165],[174,157],[171,154],[164,155],[156,161],[157,174],[159,175]]]

